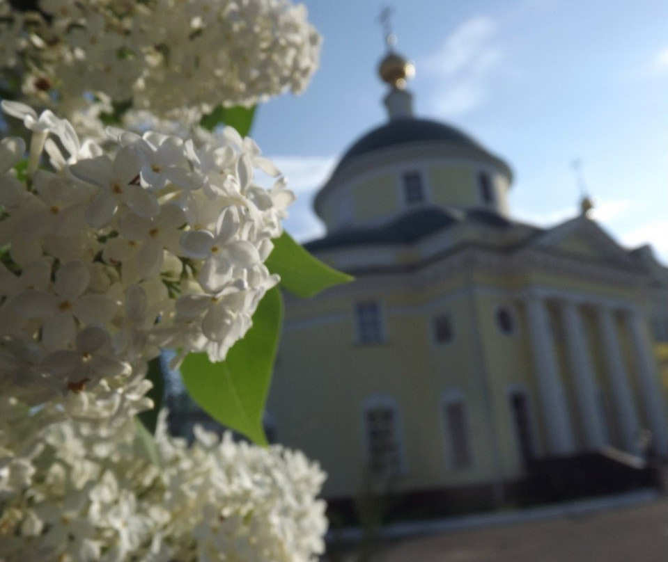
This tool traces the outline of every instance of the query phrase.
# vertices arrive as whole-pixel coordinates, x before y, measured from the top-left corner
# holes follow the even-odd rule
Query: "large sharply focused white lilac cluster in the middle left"
[[[2,380],[24,380],[35,406],[102,380],[123,389],[160,348],[224,360],[279,280],[264,264],[294,198],[279,170],[233,130],[198,145],[109,129],[103,151],[50,111],[2,107],[43,124],[56,166],[17,174],[24,143],[0,144]],[[274,188],[254,183],[255,168]]]

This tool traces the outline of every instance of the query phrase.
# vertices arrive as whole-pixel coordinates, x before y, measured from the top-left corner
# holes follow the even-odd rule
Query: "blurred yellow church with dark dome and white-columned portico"
[[[543,460],[665,460],[668,269],[587,198],[554,227],[515,220],[508,163],[415,116],[394,49],[379,72],[389,119],[320,188],[327,234],[306,243],[355,282],[286,295],[272,433],[320,462],[334,503],[385,481],[492,505]]]

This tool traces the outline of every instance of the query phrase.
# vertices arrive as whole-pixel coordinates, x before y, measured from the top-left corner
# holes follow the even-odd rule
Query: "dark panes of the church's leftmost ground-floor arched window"
[[[368,467],[373,474],[390,476],[401,468],[401,449],[394,408],[376,406],[366,410]]]

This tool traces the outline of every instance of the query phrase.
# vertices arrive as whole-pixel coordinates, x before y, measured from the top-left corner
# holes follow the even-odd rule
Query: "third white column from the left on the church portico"
[[[619,337],[617,336],[614,316],[611,310],[599,308],[596,310],[596,317],[598,319],[601,343],[603,344],[607,380],[612,391],[612,400],[614,401],[616,421],[621,433],[622,445],[626,451],[639,454],[640,423],[631,387],[628,383],[626,367],[624,367],[624,360],[619,348]]]

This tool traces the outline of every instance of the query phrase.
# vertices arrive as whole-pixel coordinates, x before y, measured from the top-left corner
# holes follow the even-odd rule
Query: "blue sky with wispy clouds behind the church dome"
[[[301,96],[258,111],[253,136],[300,195],[287,228],[323,230],[314,191],[352,142],[387,119],[376,74],[381,3],[306,1],[323,34]],[[668,3],[395,0],[397,50],[414,61],[415,113],[463,129],[515,172],[511,213],[553,225],[577,212],[572,163],[598,220],[668,262]]]

